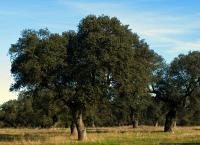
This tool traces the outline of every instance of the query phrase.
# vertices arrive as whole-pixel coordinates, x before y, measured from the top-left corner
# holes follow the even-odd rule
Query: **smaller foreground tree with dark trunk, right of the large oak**
[[[172,132],[178,109],[189,107],[200,85],[200,52],[179,55],[169,65],[166,75],[153,88],[156,97],[168,106],[165,132]]]

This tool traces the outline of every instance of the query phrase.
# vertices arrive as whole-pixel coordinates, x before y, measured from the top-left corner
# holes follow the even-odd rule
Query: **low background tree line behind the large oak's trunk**
[[[44,101],[45,99],[45,101]],[[48,96],[33,102],[31,97],[10,100],[1,105],[0,127],[70,127],[71,114],[69,108],[62,102],[55,104],[48,102]],[[144,109],[137,114],[139,125],[164,125],[167,107],[162,102],[148,98]],[[40,102],[42,101],[42,102]],[[60,105],[60,106],[59,106]],[[200,125],[200,108],[179,110],[176,122],[180,126]],[[87,127],[123,126],[131,125],[132,118],[126,109],[120,108],[115,103],[98,104],[97,109],[89,110],[84,114],[84,122]],[[135,126],[135,124],[133,127]]]

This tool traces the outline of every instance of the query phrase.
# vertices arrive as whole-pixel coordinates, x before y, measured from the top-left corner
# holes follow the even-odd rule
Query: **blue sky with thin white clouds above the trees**
[[[167,63],[200,51],[200,0],[0,0],[0,104],[17,99],[17,92],[9,92],[14,81],[8,50],[22,30],[77,30],[89,14],[117,17]]]

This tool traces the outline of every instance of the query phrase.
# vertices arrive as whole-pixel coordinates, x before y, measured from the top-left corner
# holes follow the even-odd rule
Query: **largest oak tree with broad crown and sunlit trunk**
[[[80,22],[77,33],[25,30],[9,52],[11,90],[64,102],[79,140],[86,133],[83,115],[100,100],[123,103],[135,122],[160,60],[117,18],[93,15]]]

